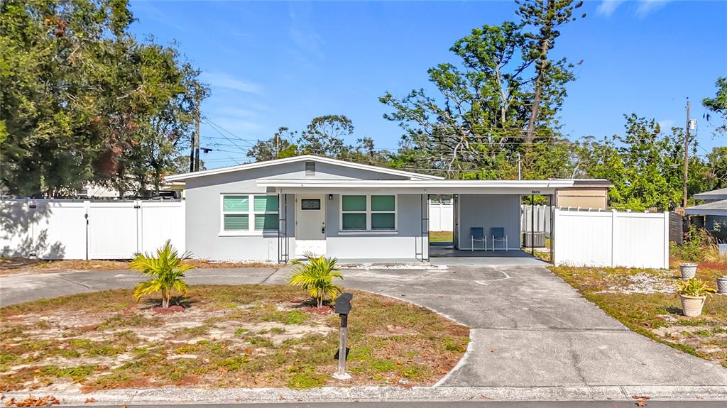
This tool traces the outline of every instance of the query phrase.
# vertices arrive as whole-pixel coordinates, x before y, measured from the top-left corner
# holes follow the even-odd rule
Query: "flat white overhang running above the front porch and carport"
[[[395,192],[397,194],[551,195],[574,180],[301,180],[259,179],[257,187],[281,194]]]

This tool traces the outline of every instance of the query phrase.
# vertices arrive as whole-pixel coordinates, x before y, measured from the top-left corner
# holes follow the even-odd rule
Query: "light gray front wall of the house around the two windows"
[[[186,240],[187,248],[195,258],[217,261],[277,261],[277,232],[253,236],[220,236],[220,195],[264,194],[257,187],[257,179],[310,179],[305,176],[304,163],[241,171],[235,174],[190,179],[186,186]],[[353,168],[316,163],[318,179],[382,179],[385,174]],[[389,178],[401,178],[390,176]],[[421,250],[420,195],[398,196],[398,234],[339,234],[339,195],[328,200],[326,195],[326,245],[328,256],[337,258],[414,258],[415,248]],[[281,218],[284,200],[281,197]],[[287,195],[288,253],[295,256],[295,196]],[[426,209],[426,206],[425,206]],[[426,237],[425,237],[426,240]],[[415,245],[419,245],[415,247]],[[425,245],[425,250],[427,250]]]

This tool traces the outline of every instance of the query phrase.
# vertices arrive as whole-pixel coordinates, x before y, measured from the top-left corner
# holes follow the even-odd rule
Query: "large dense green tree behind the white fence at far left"
[[[198,72],[129,32],[127,0],[0,4],[0,181],[71,195],[89,181],[158,189],[189,134]],[[149,171],[149,168],[152,170]]]

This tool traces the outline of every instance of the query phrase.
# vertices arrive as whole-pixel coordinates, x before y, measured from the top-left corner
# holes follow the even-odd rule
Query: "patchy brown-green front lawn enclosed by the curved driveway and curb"
[[[190,287],[184,311],[160,314],[130,290],[0,309],[0,391],[103,388],[432,385],[459,361],[469,330],[438,314],[354,292],[348,372],[339,317],[276,285]]]

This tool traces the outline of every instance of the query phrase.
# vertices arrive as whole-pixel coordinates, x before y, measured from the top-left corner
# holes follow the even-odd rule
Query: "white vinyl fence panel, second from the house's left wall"
[[[89,204],[89,259],[126,259],[139,251],[135,201]]]

